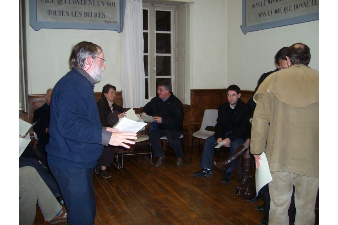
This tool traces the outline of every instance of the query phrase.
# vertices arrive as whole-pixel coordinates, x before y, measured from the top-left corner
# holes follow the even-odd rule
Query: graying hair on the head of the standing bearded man
[[[100,50],[100,51],[99,51]],[[70,55],[70,66],[73,69],[84,68],[84,62],[89,55],[98,56],[102,52],[100,46],[88,41],[82,41],[74,46]]]

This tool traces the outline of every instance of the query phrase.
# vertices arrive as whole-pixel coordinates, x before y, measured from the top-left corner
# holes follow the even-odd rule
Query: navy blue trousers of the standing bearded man
[[[65,206],[68,225],[93,225],[96,205],[93,187],[93,168],[61,168],[49,163]]]

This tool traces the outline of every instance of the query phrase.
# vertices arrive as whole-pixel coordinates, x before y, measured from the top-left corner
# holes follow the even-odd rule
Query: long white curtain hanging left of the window
[[[121,87],[124,108],[145,105],[142,0],[126,0]]]

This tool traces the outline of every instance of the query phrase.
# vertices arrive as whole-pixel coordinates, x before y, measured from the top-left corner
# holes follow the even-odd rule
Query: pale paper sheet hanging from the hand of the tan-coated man
[[[263,152],[259,157],[262,159],[259,160],[260,166],[256,169],[256,190],[257,192],[263,188],[268,182],[272,180],[268,160],[266,155]]]

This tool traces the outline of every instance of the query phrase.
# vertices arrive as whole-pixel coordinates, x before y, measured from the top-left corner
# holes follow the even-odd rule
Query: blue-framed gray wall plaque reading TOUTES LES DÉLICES
[[[123,30],[125,0],[29,0],[29,25],[41,28]]]

